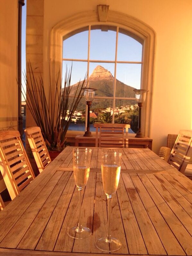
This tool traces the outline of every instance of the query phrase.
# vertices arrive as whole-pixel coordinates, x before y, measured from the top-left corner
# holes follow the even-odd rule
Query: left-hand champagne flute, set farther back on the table
[[[74,180],[79,191],[79,221],[76,227],[72,227],[68,231],[68,235],[72,238],[83,239],[91,235],[88,227],[82,226],[82,190],[86,186],[91,163],[91,148],[74,148],[73,149],[73,170]]]

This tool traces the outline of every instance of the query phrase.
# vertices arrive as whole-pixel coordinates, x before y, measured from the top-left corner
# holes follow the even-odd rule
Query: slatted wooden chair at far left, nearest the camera
[[[0,170],[12,200],[35,178],[19,131],[0,132]]]

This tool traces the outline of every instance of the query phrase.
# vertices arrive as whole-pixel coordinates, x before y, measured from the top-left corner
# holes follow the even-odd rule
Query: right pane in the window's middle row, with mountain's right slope
[[[134,89],[141,88],[141,64],[117,64],[116,97],[135,98]]]

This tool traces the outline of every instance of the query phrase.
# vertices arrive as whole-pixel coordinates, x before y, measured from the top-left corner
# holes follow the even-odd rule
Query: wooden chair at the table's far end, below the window
[[[97,147],[128,147],[129,124],[94,124]]]

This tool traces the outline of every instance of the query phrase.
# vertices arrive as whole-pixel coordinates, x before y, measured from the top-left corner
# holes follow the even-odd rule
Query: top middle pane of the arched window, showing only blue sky
[[[90,59],[115,60],[116,28],[115,31],[110,29],[112,28],[108,26],[91,27]]]

